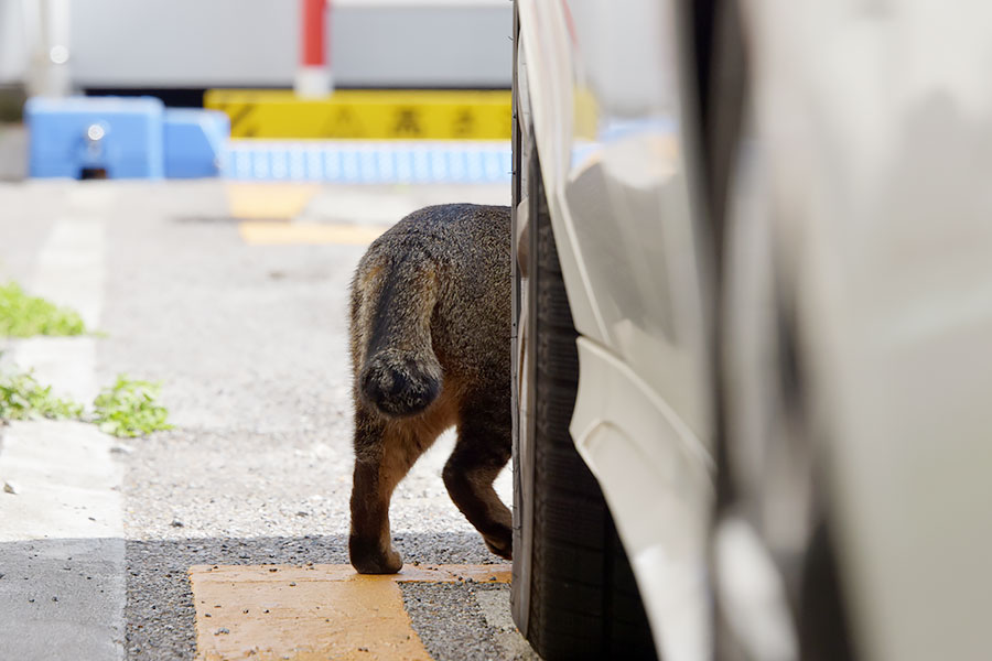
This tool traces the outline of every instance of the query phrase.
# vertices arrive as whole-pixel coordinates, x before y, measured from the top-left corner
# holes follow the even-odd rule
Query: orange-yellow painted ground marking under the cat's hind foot
[[[468,579],[508,583],[510,565],[405,565],[386,576],[351,565],[193,566],[196,659],[429,661],[398,584]]]

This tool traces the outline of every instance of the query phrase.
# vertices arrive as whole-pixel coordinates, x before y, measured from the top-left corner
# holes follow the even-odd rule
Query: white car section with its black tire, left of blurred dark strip
[[[653,657],[644,611],[666,654],[708,639],[711,283],[678,30],[621,4],[517,3],[513,606],[550,659]]]

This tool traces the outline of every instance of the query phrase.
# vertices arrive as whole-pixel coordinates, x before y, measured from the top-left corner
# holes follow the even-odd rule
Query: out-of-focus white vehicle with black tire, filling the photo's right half
[[[516,11],[520,630],[986,658],[992,6]]]

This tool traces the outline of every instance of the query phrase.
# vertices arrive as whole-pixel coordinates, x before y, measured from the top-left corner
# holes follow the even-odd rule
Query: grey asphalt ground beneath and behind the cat
[[[37,367],[40,377],[66,393],[93,392],[121,373],[160,381],[175,425],[94,446],[100,475],[118,476],[93,496],[108,508],[101,518],[119,519],[107,523],[111,532],[66,532],[58,519],[39,529],[47,514],[31,509],[32,494],[50,494],[51,502],[39,508],[84,502],[76,492],[45,491],[51,478],[44,469],[23,478],[26,486],[18,492],[0,494],[4,522],[11,512],[30,522],[4,525],[0,540],[0,621],[31,622],[48,638],[42,636],[40,648],[4,652],[10,643],[0,637],[0,658],[11,658],[13,649],[25,661],[68,658],[52,646],[73,640],[83,625],[73,624],[68,606],[52,610],[58,595],[48,596],[50,588],[75,595],[73,610],[89,613],[89,632],[109,641],[99,658],[193,659],[197,631],[207,629],[197,621],[191,567],[347,563],[352,412],[345,301],[365,249],[355,237],[374,236],[410,210],[445,202],[508,204],[509,189],[219,181],[0,184],[0,281],[15,279],[82,307],[99,330],[62,345],[8,342],[12,356],[4,360]],[[258,213],[248,218],[251,209]],[[261,239],[246,238],[246,220],[267,228]],[[294,231],[301,227],[310,229]],[[4,470],[21,465],[12,454],[19,434],[54,433],[53,443],[78,447],[80,434],[91,433],[82,426],[0,427],[0,481]],[[449,434],[398,488],[391,510],[396,545],[407,562],[423,565],[502,562],[444,490],[440,472],[451,447]],[[508,474],[498,487],[509,501]],[[85,514],[73,512],[77,519]],[[85,522],[95,524],[88,516]],[[122,556],[115,562],[117,548]],[[94,568],[85,564],[90,561],[103,564]],[[90,589],[94,572],[101,587]],[[66,587],[68,574],[83,585]],[[430,658],[530,655],[509,621],[506,583],[403,583],[400,590]],[[42,595],[45,609],[35,607]],[[257,644],[265,644],[263,635]],[[302,650],[306,641],[300,644]]]

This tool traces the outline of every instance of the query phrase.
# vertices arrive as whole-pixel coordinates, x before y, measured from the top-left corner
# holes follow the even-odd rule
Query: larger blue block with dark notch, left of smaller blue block
[[[152,97],[35,97],[24,105],[35,177],[161,178],[162,101]]]

